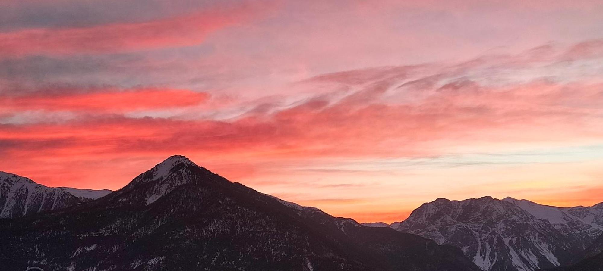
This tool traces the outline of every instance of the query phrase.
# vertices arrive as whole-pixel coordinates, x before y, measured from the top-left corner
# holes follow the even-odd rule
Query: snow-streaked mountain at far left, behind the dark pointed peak
[[[31,179],[0,172],[0,218],[60,210],[111,193],[111,190],[46,187]]]

